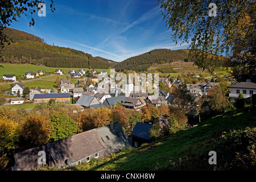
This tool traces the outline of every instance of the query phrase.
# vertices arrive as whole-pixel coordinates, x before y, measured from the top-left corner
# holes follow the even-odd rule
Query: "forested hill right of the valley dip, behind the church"
[[[152,65],[174,63],[176,61],[193,61],[189,57],[189,49],[154,49],[150,52],[143,53],[142,55],[130,57],[115,65],[115,70],[123,72],[131,70],[136,72],[147,71]],[[208,61],[208,60],[205,60]],[[218,62],[217,66],[224,65],[225,61],[222,59]]]

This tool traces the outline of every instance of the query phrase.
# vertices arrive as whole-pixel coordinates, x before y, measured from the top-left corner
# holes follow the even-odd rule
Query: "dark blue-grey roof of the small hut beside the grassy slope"
[[[131,132],[131,136],[142,138],[145,140],[150,140],[151,127],[152,125],[142,123],[142,122],[137,122],[136,125],[134,126],[133,131]]]

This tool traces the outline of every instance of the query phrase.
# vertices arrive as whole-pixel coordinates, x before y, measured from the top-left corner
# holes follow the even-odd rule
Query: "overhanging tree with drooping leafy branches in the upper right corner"
[[[217,55],[230,55],[235,76],[255,72],[255,6],[244,1],[158,0],[172,39],[189,43],[191,55],[200,68],[212,68]],[[213,53],[216,56],[210,56]],[[208,61],[207,61],[208,60]],[[217,61],[213,61],[217,60]],[[241,72],[239,75],[238,73]],[[236,74],[237,73],[237,74]]]

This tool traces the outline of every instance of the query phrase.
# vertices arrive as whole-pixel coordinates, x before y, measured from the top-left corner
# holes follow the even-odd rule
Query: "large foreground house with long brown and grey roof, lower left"
[[[13,171],[40,169],[42,160],[39,158],[42,154],[45,154],[47,166],[56,166],[59,169],[76,166],[117,153],[123,147],[131,147],[127,139],[119,123],[111,123],[15,153],[12,169]]]

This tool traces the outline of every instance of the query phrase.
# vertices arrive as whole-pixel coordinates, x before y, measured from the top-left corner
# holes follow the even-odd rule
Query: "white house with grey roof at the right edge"
[[[243,94],[243,98],[248,98],[256,93],[256,84],[253,82],[238,82],[237,84],[230,85],[229,98],[230,101],[236,101],[239,94]]]

